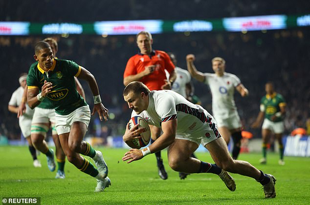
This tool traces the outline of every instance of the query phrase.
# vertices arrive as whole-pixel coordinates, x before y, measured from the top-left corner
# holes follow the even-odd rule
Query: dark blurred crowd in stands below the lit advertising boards
[[[174,52],[178,66],[186,69],[185,56],[193,53],[197,67],[202,72],[212,72],[211,59],[220,56],[226,60],[226,71],[239,76],[249,90],[249,96],[236,95],[244,129],[261,137],[260,130],[250,130],[250,124],[259,112],[259,104],[265,95],[265,83],[272,81],[275,90],[282,94],[288,104],[285,119],[286,132],[296,127],[305,127],[310,117],[310,76],[308,72],[310,51],[309,29],[275,30],[243,33],[169,33],[154,35],[154,49]],[[7,103],[12,92],[19,86],[20,73],[27,72],[34,62],[33,46],[46,36],[0,37],[0,132],[9,139],[20,139],[16,115],[9,113]],[[130,110],[122,99],[123,72],[129,57],[138,50],[135,36],[53,36],[58,40],[58,58],[70,59],[91,71],[99,87],[105,105],[113,113],[107,125],[111,135],[122,135],[129,120]],[[206,86],[192,80],[202,106],[211,112],[211,94]],[[86,82],[86,100],[92,107],[92,96]],[[98,134],[98,123],[92,119],[90,135]]]

